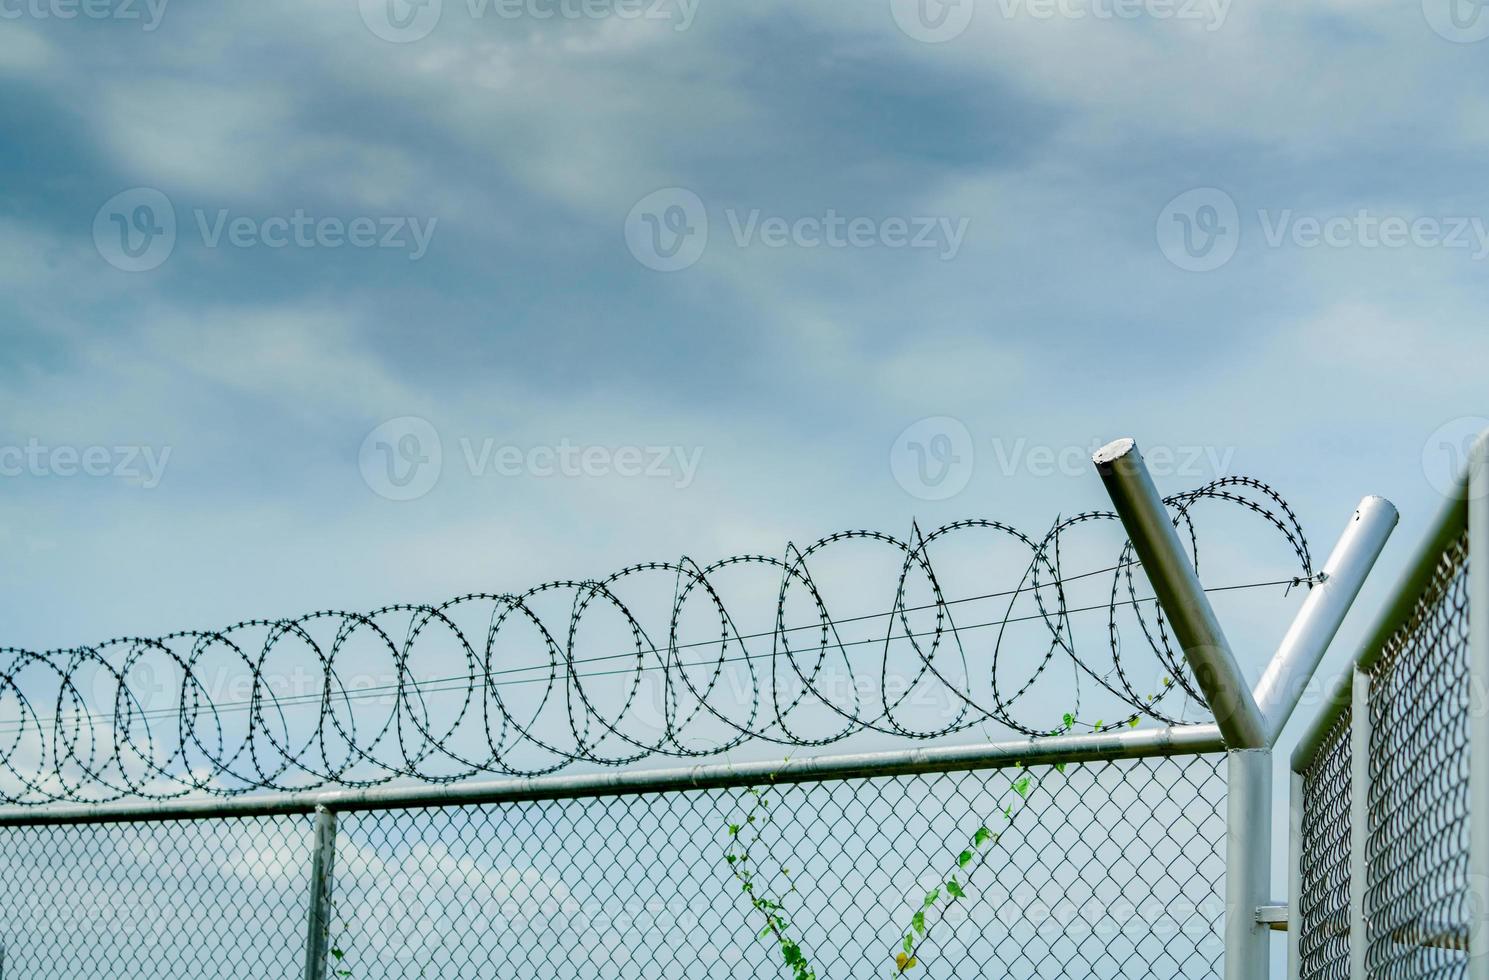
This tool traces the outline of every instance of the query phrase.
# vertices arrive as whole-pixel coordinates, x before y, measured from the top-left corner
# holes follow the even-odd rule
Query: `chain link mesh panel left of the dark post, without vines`
[[[0,830],[6,980],[295,977],[313,818]]]

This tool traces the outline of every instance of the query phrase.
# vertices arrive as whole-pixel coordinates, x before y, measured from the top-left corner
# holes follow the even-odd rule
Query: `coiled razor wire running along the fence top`
[[[1307,541],[1286,500],[1246,477],[1217,480],[1166,500],[1196,566],[1193,509],[1200,502],[1228,503],[1260,517],[1297,557],[1297,575],[1237,588],[1316,581]],[[618,767],[648,757],[718,757],[750,742],[814,748],[859,733],[937,739],[987,722],[1047,736],[1063,728],[1015,710],[1057,663],[1071,669],[1077,700],[1081,685],[1088,684],[1129,712],[1109,722],[1078,719],[1078,725],[1102,731],[1141,718],[1182,724],[1173,703],[1203,707],[1203,697],[1155,600],[1139,594],[1132,544],[1123,545],[1109,567],[1062,576],[1062,550],[1072,532],[1115,518],[1103,511],[1077,514],[1057,520],[1042,538],[992,520],[956,521],[929,533],[916,527],[908,539],[850,530],[806,548],[788,547],[779,559],[746,554],[712,564],[689,559],[634,564],[597,581],[555,581],[520,594],[472,593],[438,606],[322,611],[45,654],[0,648],[0,803],[231,797],[368,788],[399,779],[448,783],[478,774],[530,777],[575,763]],[[948,599],[929,550],[978,533],[1001,535],[1026,553],[1021,578],[1011,590]],[[867,542],[898,556],[895,599],[887,611],[834,618],[812,566],[846,542]],[[762,566],[779,576],[773,629],[736,626],[716,582],[739,566]],[[1066,585],[1100,575],[1111,575],[1108,602],[1072,608]],[[648,576],[666,576],[672,594],[670,617],[660,630],[648,629],[643,614],[622,600],[633,582]],[[560,623],[539,612],[554,596],[567,606]],[[1023,596],[1033,600],[1032,615],[1015,615]],[[1007,603],[999,618],[959,624],[956,614],[971,600]],[[788,609],[795,612],[803,603],[810,621],[788,626]],[[683,623],[692,623],[700,609],[716,633],[710,627],[710,639],[685,639]],[[1102,663],[1077,652],[1069,621],[1075,612],[1097,609],[1108,612]],[[1138,623],[1138,636],[1130,640],[1118,627],[1118,611],[1126,609]],[[408,620],[401,634],[386,626],[390,617],[402,623],[404,615]],[[628,634],[624,651],[587,646],[591,621],[603,617]],[[484,636],[479,627],[462,629],[457,620],[482,623]],[[847,624],[873,620],[884,621],[881,636],[844,637]],[[929,623],[917,629],[914,620]],[[1044,639],[1032,660],[1024,660],[1027,649],[1020,645],[1014,663],[1004,649],[1005,634],[1021,621],[1042,624]],[[314,634],[332,626],[329,640]],[[986,675],[966,657],[963,639],[972,630],[993,636]],[[543,661],[503,661],[502,637],[518,633],[538,642]],[[895,643],[896,651],[908,649],[910,663],[905,682],[898,685],[890,684],[889,651]],[[351,678],[353,667],[365,664],[345,661],[363,654],[366,645],[389,658],[383,685]],[[270,682],[270,658],[281,646],[308,654],[307,663],[296,664],[310,672],[299,694],[277,693]],[[1161,682],[1136,681],[1133,654],[1124,646],[1154,657]],[[463,667],[421,681],[415,670],[435,648],[457,651]],[[877,657],[871,655],[876,648]],[[978,648],[978,663],[989,663],[986,652],[986,646]],[[153,675],[149,684],[135,685],[144,663],[170,670],[171,699],[159,697]],[[244,678],[246,690],[237,697],[210,684],[208,664],[220,663]],[[835,693],[844,670],[847,697]],[[1008,684],[1002,672],[1013,672],[1015,682]],[[978,676],[980,685],[974,684]],[[600,685],[619,693],[605,697],[597,693]],[[917,719],[913,710],[911,693],[928,690],[948,706],[935,722]],[[168,700],[168,707],[159,707],[161,700]],[[39,706],[51,713],[43,715]],[[377,706],[386,710],[372,710]]]

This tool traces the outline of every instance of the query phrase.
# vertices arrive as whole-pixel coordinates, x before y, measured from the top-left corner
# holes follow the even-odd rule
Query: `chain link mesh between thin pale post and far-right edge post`
[[[1468,646],[1465,535],[1371,670],[1371,977],[1468,971]]]

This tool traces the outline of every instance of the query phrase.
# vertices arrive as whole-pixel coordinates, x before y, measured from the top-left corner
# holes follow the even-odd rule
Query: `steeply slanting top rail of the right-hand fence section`
[[[1334,679],[1324,699],[1322,709],[1298,740],[1297,748],[1292,751],[1292,771],[1301,773],[1313,764],[1334,722],[1349,707],[1354,669],[1368,670],[1380,658],[1386,643],[1416,611],[1418,600],[1428,585],[1431,585],[1443,553],[1462,536],[1467,527],[1468,484],[1465,475],[1450,494],[1447,503],[1432,520],[1422,544],[1407,563],[1406,572],[1391,590],[1389,602],[1365,634],[1365,640],[1349,660],[1351,669],[1342,672]]]

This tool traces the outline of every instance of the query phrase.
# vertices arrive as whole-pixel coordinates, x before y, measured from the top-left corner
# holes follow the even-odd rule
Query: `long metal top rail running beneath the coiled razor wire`
[[[896,752],[862,752],[816,758],[694,766],[631,773],[539,776],[445,786],[378,786],[332,789],[265,797],[204,797],[173,801],[67,804],[9,807],[0,810],[0,827],[58,827],[68,824],[134,824],[213,818],[286,816],[317,810],[402,810],[536,800],[728,789],[761,783],[810,783],[841,779],[914,776],[1045,766],[1054,763],[1100,763],[1170,755],[1206,755],[1225,749],[1214,724],[1147,728],[1102,734],[1056,736],[971,746],[925,748]]]

